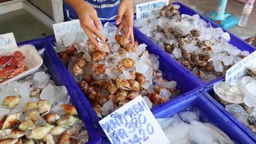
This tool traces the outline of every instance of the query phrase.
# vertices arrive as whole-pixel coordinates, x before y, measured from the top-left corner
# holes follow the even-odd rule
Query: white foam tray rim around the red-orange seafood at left
[[[37,71],[40,68],[40,66],[43,64],[43,59],[40,57],[40,55],[38,54],[38,52],[36,50],[36,47],[34,47],[33,45],[23,45],[21,47],[18,47],[18,49],[11,50],[10,53],[13,53],[17,50],[21,51],[23,53],[23,55],[26,57],[23,61],[26,65],[26,67],[28,68],[28,70],[24,71],[23,73],[21,73],[19,75],[12,77],[11,79],[1,82],[0,87],[5,85],[8,82],[18,80],[21,77],[29,75],[29,74],[33,73],[34,71]]]

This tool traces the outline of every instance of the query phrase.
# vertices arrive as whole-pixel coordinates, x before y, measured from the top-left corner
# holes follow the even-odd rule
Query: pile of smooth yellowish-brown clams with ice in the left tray
[[[88,131],[43,65],[0,87],[0,143],[85,143]]]

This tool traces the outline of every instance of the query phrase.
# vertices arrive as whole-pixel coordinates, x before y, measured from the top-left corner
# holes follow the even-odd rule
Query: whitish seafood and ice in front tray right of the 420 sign
[[[200,122],[200,110],[182,111],[167,118],[158,118],[170,143],[234,143],[222,130],[208,122]]]

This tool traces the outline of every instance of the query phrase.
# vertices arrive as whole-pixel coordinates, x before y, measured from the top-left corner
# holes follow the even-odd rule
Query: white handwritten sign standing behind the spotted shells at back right
[[[162,9],[169,4],[169,0],[158,0],[136,5],[136,19],[146,18],[148,15],[155,13],[156,10]]]

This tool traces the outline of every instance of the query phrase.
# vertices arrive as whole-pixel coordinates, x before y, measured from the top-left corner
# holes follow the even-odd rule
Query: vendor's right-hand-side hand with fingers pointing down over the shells
[[[121,1],[118,8],[118,16],[115,24],[119,25],[117,34],[120,33],[121,29],[124,31],[124,35],[131,40],[134,44],[133,37],[133,0]]]

